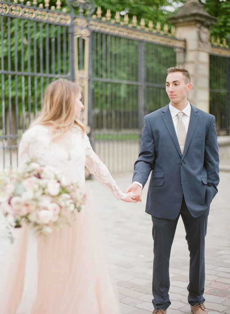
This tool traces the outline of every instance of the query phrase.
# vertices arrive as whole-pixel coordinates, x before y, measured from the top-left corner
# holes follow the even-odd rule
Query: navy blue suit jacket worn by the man
[[[191,106],[183,156],[169,104],[145,116],[133,181],[143,187],[151,173],[146,212],[175,219],[184,196],[189,212],[199,217],[209,210],[219,183],[215,117]]]

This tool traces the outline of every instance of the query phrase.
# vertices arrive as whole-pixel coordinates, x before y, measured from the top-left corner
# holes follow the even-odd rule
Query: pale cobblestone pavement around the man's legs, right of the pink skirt
[[[132,174],[114,176],[124,191]],[[206,236],[205,306],[209,314],[230,314],[230,172],[220,173],[219,192],[211,203]],[[122,314],[152,313],[153,240],[151,217],[145,214],[147,186],[142,203],[117,201],[96,180],[87,181],[96,198],[101,225],[106,234],[113,272],[118,285]],[[181,218],[170,260],[168,314],[190,313],[187,302],[189,252]]]

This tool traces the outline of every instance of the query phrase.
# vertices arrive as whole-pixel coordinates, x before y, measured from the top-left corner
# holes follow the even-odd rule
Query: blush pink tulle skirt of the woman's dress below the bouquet
[[[1,314],[120,313],[101,245],[94,202],[87,185],[85,190],[86,203],[76,214],[72,225],[53,231],[45,241],[42,236],[37,238],[36,297],[31,297],[33,289],[27,291],[27,304],[21,304],[20,309],[19,304],[24,300],[29,231],[26,226],[15,230],[16,238],[1,279]],[[30,266],[33,269],[33,265]],[[33,275],[27,280],[30,287],[36,285]]]

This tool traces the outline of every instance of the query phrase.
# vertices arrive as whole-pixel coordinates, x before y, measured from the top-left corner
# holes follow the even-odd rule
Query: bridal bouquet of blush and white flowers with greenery
[[[65,184],[64,177],[51,166],[29,162],[24,171],[9,171],[0,179],[0,211],[10,225],[32,226],[39,234],[70,224],[85,201],[76,184]]]

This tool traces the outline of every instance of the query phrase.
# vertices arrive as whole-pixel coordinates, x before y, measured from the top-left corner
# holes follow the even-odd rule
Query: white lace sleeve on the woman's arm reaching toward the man
[[[85,165],[96,179],[105,185],[117,199],[124,199],[126,195],[119,189],[116,182],[112,178],[108,168],[100,160],[97,154],[93,151],[88,136],[85,134],[84,141],[86,143],[86,162]]]

